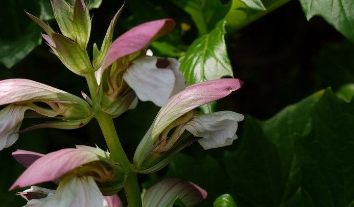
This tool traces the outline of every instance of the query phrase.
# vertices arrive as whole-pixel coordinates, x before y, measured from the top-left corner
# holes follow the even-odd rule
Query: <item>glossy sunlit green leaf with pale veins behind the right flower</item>
[[[180,70],[189,85],[233,77],[224,39],[224,26],[225,21],[221,21],[209,34],[196,39],[181,59]],[[204,106],[202,110],[204,113],[213,112],[213,104]]]

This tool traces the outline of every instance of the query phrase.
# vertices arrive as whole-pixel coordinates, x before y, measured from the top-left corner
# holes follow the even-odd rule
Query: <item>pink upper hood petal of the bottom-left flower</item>
[[[90,151],[67,148],[55,151],[36,160],[23,172],[9,190],[49,182],[83,164],[99,161]]]

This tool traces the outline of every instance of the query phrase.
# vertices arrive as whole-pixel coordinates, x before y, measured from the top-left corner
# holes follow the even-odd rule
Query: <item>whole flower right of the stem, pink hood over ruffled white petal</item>
[[[187,87],[172,96],[158,112],[149,131],[134,154],[137,171],[150,173],[167,165],[173,154],[198,140],[204,149],[232,144],[237,139],[238,122],[242,114],[221,111],[196,114],[193,110],[238,90],[243,82],[238,79],[206,81]],[[175,128],[173,133],[170,131]],[[195,138],[182,138],[188,131]]]

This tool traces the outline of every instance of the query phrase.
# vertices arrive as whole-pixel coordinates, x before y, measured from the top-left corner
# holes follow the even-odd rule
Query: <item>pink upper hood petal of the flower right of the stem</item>
[[[218,79],[187,87],[172,96],[167,105],[161,108],[154,121],[152,137],[158,136],[164,128],[188,111],[223,98],[241,88],[242,84],[239,79]]]

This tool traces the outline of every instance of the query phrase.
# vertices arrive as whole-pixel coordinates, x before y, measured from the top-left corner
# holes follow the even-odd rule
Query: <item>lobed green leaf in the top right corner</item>
[[[354,1],[350,0],[300,0],[302,10],[309,20],[322,16],[338,32],[354,42]]]

